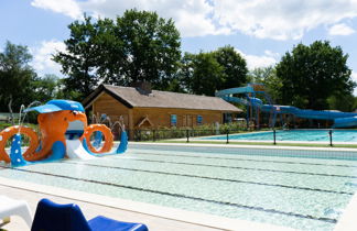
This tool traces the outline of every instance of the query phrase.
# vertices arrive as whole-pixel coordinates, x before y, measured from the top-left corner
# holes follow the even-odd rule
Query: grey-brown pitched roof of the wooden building
[[[138,88],[111,85],[100,85],[83,101],[83,105],[87,108],[101,92],[107,92],[128,108],[176,108],[229,112],[242,111],[218,97],[160,90],[152,90],[151,94],[143,94]]]

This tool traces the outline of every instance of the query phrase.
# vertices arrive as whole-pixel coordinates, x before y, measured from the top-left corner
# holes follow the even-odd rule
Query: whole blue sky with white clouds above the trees
[[[357,0],[0,0],[0,52],[7,41],[25,45],[40,76],[63,77],[51,57],[65,51],[71,22],[84,13],[113,19],[133,8],[173,19],[182,52],[231,45],[249,69],[279,63],[299,43],[329,41],[349,55],[357,81]]]

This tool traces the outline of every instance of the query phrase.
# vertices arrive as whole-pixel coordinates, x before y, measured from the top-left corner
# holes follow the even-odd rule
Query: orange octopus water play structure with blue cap
[[[24,112],[29,111],[40,113],[37,116],[40,139],[34,130],[21,125],[21,122],[0,132],[0,161],[11,163],[11,166],[24,166],[64,157],[88,160],[125,153],[127,150],[128,136],[123,124],[119,124],[120,144],[117,150],[110,152],[113,146],[111,130],[105,124],[87,125],[87,117],[79,102],[51,100],[46,105],[24,110]],[[90,136],[94,133],[96,141],[91,144]],[[29,147],[23,153],[21,135],[29,138]],[[101,143],[101,138],[104,144],[98,145]],[[10,154],[6,150],[9,142],[11,143]]]

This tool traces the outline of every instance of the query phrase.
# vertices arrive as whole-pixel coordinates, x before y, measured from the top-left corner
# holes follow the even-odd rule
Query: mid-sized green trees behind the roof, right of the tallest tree
[[[216,90],[247,82],[246,61],[231,46],[215,52],[185,53],[181,61],[178,81],[191,94],[215,96]]]

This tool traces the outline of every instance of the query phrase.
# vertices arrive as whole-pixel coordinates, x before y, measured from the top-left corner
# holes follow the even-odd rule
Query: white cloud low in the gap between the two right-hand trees
[[[262,56],[258,55],[248,55],[242,53],[239,50],[236,50],[238,53],[240,53],[247,61],[248,69],[255,69],[258,67],[269,67],[277,63],[278,56],[280,56],[278,53],[272,53],[271,51],[266,51]]]

